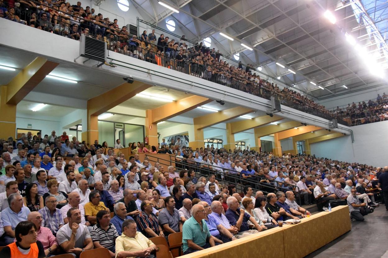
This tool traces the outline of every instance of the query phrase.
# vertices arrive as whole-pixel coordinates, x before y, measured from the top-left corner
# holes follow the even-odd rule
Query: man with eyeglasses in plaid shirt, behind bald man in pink
[[[58,230],[63,226],[62,213],[57,206],[57,198],[55,196],[47,196],[45,199],[46,206],[39,210],[42,215],[43,226],[51,230],[52,234],[56,235]]]

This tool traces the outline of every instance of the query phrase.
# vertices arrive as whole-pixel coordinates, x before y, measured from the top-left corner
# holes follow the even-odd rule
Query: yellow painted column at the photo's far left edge
[[[7,104],[7,86],[0,86],[0,138],[16,138],[16,105]]]

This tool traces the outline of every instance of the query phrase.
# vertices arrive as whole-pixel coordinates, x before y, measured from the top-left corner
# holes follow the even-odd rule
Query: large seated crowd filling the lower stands
[[[106,142],[80,144],[66,132],[40,137],[0,139],[1,257],[79,256],[93,248],[152,257],[152,237],[168,241],[176,232],[187,254],[303,218],[303,204],[327,210],[343,199],[359,221],[378,203],[388,210],[388,166],[163,142],[178,168],[140,160],[140,142],[125,157]],[[232,175],[257,187],[230,184]]]

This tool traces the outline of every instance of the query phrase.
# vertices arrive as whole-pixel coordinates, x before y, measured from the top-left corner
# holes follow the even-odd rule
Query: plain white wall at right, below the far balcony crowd
[[[350,135],[310,144],[311,154],[340,161],[386,166],[388,153],[388,121],[351,127]]]

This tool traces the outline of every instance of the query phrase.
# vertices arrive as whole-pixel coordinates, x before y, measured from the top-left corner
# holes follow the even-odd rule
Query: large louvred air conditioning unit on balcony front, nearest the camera
[[[106,42],[81,34],[80,56],[86,57],[88,60],[92,59],[102,62],[102,64],[104,64],[104,62],[106,62],[107,56]]]

